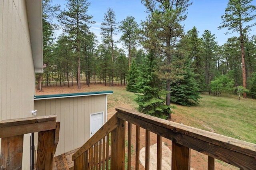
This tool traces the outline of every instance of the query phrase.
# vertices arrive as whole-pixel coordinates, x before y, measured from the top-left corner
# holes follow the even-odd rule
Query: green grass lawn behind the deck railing
[[[110,87],[111,88],[111,87]],[[136,110],[136,95],[126,88],[112,87],[112,95],[108,95],[108,107],[123,107],[125,103]],[[226,94],[200,95],[199,105],[186,107],[175,105],[172,117],[174,121],[203,130],[213,129],[215,133],[230,136],[256,144],[256,100],[227,97]],[[208,127],[208,128],[207,128]]]

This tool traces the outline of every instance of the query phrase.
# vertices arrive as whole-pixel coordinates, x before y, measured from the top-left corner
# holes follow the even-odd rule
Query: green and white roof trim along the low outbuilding
[[[68,93],[68,94],[58,94],[58,95],[34,95],[34,99],[51,99],[51,98],[64,98],[64,97],[79,97],[79,96],[92,96],[92,95],[107,95],[112,94],[113,91],[95,91],[86,93]]]

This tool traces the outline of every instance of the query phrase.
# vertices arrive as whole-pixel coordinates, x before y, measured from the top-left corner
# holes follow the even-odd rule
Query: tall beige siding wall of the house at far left
[[[31,117],[35,70],[25,0],[0,0],[0,121]],[[30,169],[30,134],[22,169]]]

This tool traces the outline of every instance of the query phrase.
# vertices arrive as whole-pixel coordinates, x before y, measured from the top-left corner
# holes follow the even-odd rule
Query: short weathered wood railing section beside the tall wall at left
[[[38,133],[36,169],[52,169],[53,156],[59,141],[60,122],[56,115],[10,119],[0,122],[0,169],[22,169],[24,134]]]

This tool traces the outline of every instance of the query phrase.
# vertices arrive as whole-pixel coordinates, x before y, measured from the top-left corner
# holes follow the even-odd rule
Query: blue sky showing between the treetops
[[[58,3],[61,8],[65,8],[65,0],[53,0],[54,4]],[[141,0],[88,0],[90,6],[88,7],[88,14],[93,16],[95,24],[91,25],[90,30],[96,34],[98,40],[100,39],[100,24],[104,20],[104,13],[108,8],[112,8],[116,14],[117,22],[121,22],[126,16],[133,16],[136,22],[140,24],[146,19],[148,15],[145,13],[146,8],[141,4]],[[219,45],[223,45],[226,40],[232,36],[238,36],[237,33],[225,35],[227,29],[218,30],[218,26],[222,22],[221,16],[225,13],[228,0],[193,0],[193,4],[188,7],[187,19],[182,22],[184,30],[187,32],[194,26],[199,31],[199,37],[202,37],[204,30],[209,30],[215,34],[216,41]],[[252,1],[256,5],[256,1]],[[254,21],[256,22],[256,21]],[[255,35],[256,26],[252,28],[251,35]],[[122,34],[119,33],[114,38],[118,40]],[[121,47],[121,45],[118,45]]]

